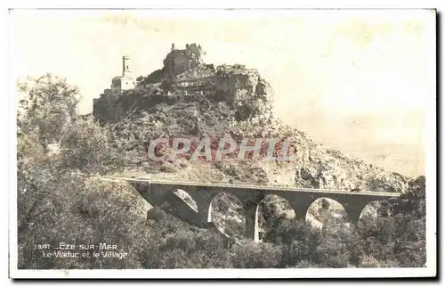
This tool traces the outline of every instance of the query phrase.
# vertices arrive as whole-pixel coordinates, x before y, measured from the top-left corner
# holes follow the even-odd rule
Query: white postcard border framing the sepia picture
[[[31,6],[34,4],[31,1],[26,1]],[[115,2],[116,1],[111,1]],[[320,1],[317,1],[320,3]],[[318,7],[322,7],[323,4],[311,1],[311,4]],[[323,1],[325,6],[328,1]],[[378,4],[380,2],[380,4]],[[430,1],[431,2],[431,1]],[[13,3],[14,6],[20,6],[23,1]],[[53,7],[60,6],[60,3],[51,1]],[[88,1],[82,4],[82,1],[76,2],[78,7],[88,7],[88,4],[92,4],[92,1]],[[179,2],[178,2],[179,3]],[[306,2],[309,3],[309,2]],[[385,3],[385,4],[383,4]],[[404,1],[405,4],[409,1]],[[417,2],[425,7],[428,4],[426,2]],[[130,6],[132,5],[129,3]],[[375,1],[373,5],[377,4],[380,7],[387,6],[387,1]],[[107,4],[108,6],[111,4]],[[118,4],[119,7],[125,6],[122,3]],[[329,4],[328,4],[329,5]],[[39,4],[40,7],[44,5]],[[162,6],[162,5],[161,5]],[[166,7],[166,5],[163,5]],[[235,7],[235,5],[230,5]],[[287,5],[284,4],[284,7]],[[304,6],[304,5],[303,5]],[[307,6],[307,5],[306,5]],[[340,7],[341,5],[336,5]],[[431,5],[429,7],[434,7]],[[127,6],[128,7],[128,6]],[[190,7],[190,4],[189,4]],[[351,7],[351,6],[350,6]],[[435,19],[433,20],[435,21]],[[432,36],[433,37],[433,36]],[[435,37],[433,37],[435,39]],[[433,50],[435,51],[435,40],[432,42]],[[6,51],[7,54],[7,51]],[[435,59],[435,54],[432,51],[432,57]],[[11,59],[7,58],[8,67],[11,67]],[[435,67],[432,67],[432,72],[435,71]],[[16,194],[16,101],[12,97],[15,90],[15,79],[8,78],[8,70],[6,70],[7,84],[9,86],[8,105],[6,108],[6,115],[8,121],[4,121],[2,124],[11,125],[6,128],[9,130],[9,181],[4,190],[9,191],[9,252],[10,252],[10,277],[12,278],[360,278],[360,277],[409,277],[409,276],[432,276],[436,275],[436,105],[435,97],[428,96],[428,112],[425,119],[425,154],[426,154],[426,168],[425,176],[426,181],[426,209],[427,209],[427,223],[426,223],[426,244],[427,244],[427,267],[425,268],[344,268],[344,269],[330,269],[330,268],[307,268],[307,269],[126,269],[126,270],[18,270],[17,269],[17,194]],[[425,94],[436,94],[435,73],[432,74],[431,89]]]

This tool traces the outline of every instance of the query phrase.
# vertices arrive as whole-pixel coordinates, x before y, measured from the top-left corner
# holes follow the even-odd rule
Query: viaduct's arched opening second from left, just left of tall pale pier
[[[246,232],[246,217],[243,205],[231,193],[218,193],[210,202],[208,221],[224,234],[241,239]]]

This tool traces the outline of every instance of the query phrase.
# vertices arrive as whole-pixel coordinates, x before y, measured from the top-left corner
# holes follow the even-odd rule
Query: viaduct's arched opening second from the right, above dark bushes
[[[312,202],[306,212],[306,222],[318,229],[336,225],[349,226],[348,213],[343,205],[326,197]]]

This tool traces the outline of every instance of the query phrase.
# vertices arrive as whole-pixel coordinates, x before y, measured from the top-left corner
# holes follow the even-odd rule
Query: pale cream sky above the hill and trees
[[[274,89],[277,117],[312,139],[406,176],[425,173],[435,98],[430,11],[12,11],[12,78],[46,72],[80,88],[81,113],[121,74],[162,67],[174,43],[242,63]]]

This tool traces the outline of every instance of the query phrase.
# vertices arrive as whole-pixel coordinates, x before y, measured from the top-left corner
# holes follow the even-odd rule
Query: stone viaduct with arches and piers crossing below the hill
[[[149,179],[120,178],[125,180],[142,194],[150,204],[161,205],[168,202],[174,207],[174,216],[191,224],[207,227],[212,222],[212,201],[218,193],[231,193],[239,199],[244,207],[246,217],[246,234],[248,239],[258,238],[258,207],[268,194],[286,199],[295,210],[295,219],[304,219],[313,201],[328,198],[340,203],[346,210],[350,222],[356,223],[361,211],[372,201],[385,201],[399,197],[400,193],[351,193],[344,190],[320,190],[304,188],[287,188],[278,186],[245,185],[245,184],[212,184],[167,182]],[[197,209],[182,201],[174,194],[182,190],[196,201]]]

